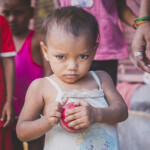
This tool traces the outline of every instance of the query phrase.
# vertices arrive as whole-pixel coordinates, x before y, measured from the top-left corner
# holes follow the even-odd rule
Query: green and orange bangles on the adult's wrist
[[[150,22],[150,17],[149,16],[137,18],[136,20],[134,20],[134,24],[132,25],[132,27],[134,29],[137,29],[139,24],[146,23],[146,22]]]

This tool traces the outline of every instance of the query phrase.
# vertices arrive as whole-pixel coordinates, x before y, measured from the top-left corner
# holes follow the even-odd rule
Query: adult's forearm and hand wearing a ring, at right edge
[[[150,0],[141,0],[139,17],[150,16]],[[142,52],[143,55],[134,57],[136,64],[150,73],[150,22],[140,24],[132,43],[132,53]]]

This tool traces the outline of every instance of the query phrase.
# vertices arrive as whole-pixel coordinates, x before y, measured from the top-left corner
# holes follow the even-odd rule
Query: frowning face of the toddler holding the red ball
[[[76,82],[89,71],[96,48],[88,48],[85,37],[75,37],[53,27],[47,40],[47,48],[41,45],[54,74],[66,83]]]

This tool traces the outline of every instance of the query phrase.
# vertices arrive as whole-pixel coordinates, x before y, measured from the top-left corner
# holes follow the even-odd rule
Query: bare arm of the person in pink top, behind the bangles
[[[117,0],[117,9],[119,18],[126,24],[132,26],[137,16],[126,5],[126,0]]]

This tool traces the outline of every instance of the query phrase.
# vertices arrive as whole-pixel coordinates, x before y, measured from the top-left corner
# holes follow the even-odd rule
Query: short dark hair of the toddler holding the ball
[[[44,44],[47,43],[46,39],[53,25],[63,27],[66,32],[70,32],[74,36],[86,34],[90,47],[95,46],[99,38],[99,28],[95,17],[76,6],[55,9],[45,18],[42,26]]]

